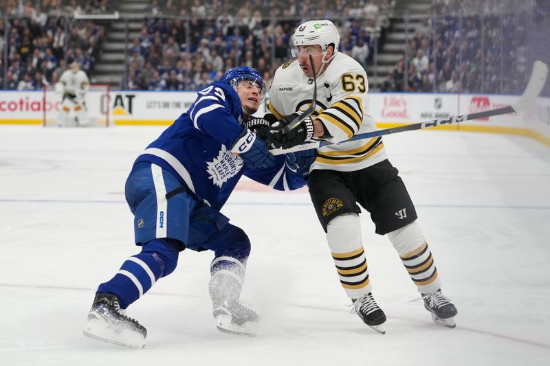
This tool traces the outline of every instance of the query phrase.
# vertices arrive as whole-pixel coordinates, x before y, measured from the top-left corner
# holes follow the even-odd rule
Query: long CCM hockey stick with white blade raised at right
[[[457,116],[448,117],[448,118],[434,119],[428,122],[419,122],[417,124],[407,124],[405,126],[385,128],[384,130],[377,130],[369,133],[361,133],[360,135],[355,135],[351,137],[351,139],[340,141],[336,144],[344,144],[349,141],[357,141],[360,139],[370,139],[372,137],[390,135],[391,133],[421,130],[423,128],[432,128],[436,126],[446,126],[450,124],[458,124],[460,122],[470,121],[472,119],[494,117],[496,115],[505,115],[508,113],[520,112],[525,110],[525,108],[527,108],[527,106],[529,106],[529,104],[531,104],[538,97],[538,95],[540,94],[540,91],[542,91],[542,88],[546,83],[547,75],[548,75],[548,66],[544,62],[535,61],[533,65],[533,71],[531,71],[531,76],[529,78],[529,82],[527,83],[527,87],[525,88],[525,91],[520,96],[520,98],[510,106],[492,109],[491,111],[476,112],[476,113],[470,113],[467,115],[457,115]],[[281,148],[273,149],[273,150],[270,150],[270,152],[273,155],[281,155],[287,152],[309,150],[313,148],[320,148],[322,146],[329,146],[329,145],[336,145],[336,144],[331,144],[329,141],[316,141],[316,142],[310,142],[308,144],[294,146],[293,148],[289,148],[285,150]]]

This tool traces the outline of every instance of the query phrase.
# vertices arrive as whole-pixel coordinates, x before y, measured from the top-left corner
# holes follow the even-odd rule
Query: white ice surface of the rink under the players
[[[163,128],[0,127],[0,365],[550,365],[550,149],[524,137],[415,131],[384,138],[415,201],[456,328],[432,323],[387,238],[362,214],[377,334],[349,313],[305,190],[244,181],[223,209],[252,240],[243,299],[256,338],[223,334],[212,253],[133,304],[130,350],[85,338],[100,284],[137,253],[124,181]]]

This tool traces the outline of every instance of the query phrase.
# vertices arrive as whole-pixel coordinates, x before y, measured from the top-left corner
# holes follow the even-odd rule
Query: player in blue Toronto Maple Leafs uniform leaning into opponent
[[[209,292],[217,328],[254,335],[258,316],[239,301],[250,241],[219,210],[242,175],[294,190],[305,185],[313,161],[308,153],[274,157],[256,137],[254,130],[267,133],[254,124],[261,119],[250,118],[264,95],[258,71],[234,67],[199,91],[189,110],[137,157],[125,194],[141,252],[100,284],[86,336],[143,347],[146,329],[123,310],[172,273],[184,249],[214,252]]]

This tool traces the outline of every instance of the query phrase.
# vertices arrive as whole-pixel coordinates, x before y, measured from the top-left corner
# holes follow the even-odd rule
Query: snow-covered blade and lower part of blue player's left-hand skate
[[[91,339],[129,348],[145,346],[145,338],[142,334],[126,328],[114,327],[99,320],[89,320],[83,334]]]

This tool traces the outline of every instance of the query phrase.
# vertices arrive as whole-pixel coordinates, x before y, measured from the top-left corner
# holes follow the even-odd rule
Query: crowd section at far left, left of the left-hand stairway
[[[73,61],[93,72],[105,29],[72,15],[106,7],[107,0],[0,0],[0,89],[41,90]]]

